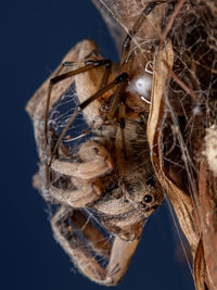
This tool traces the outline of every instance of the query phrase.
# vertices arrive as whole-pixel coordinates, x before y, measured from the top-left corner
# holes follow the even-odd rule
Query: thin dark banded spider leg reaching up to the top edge
[[[123,42],[122,65],[127,63],[131,40],[135,37],[135,35],[138,33],[138,30],[140,29],[140,27],[142,26],[142,24],[143,24],[144,20],[146,18],[146,16],[155,9],[156,5],[165,3],[165,2],[166,1],[149,2],[146,4],[146,7],[142,10],[142,12],[139,15],[139,17],[137,18],[133,27],[129,30],[129,33],[127,34],[127,36],[126,36],[126,38],[125,38],[125,40]]]

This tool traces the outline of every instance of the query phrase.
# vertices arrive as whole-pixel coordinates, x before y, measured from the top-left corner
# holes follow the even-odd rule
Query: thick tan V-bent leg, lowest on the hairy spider
[[[127,242],[115,237],[111,245],[87,216],[65,206],[53,216],[51,226],[56,241],[79,270],[105,286],[115,286],[123,278],[139,243],[139,239]],[[107,266],[103,267],[95,254],[106,260]]]

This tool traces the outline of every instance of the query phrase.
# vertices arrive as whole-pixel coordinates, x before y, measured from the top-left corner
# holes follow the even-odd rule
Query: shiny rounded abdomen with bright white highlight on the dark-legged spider
[[[145,74],[132,79],[127,87],[127,91],[131,93],[139,93],[141,96],[141,100],[150,103],[151,88],[152,77]]]

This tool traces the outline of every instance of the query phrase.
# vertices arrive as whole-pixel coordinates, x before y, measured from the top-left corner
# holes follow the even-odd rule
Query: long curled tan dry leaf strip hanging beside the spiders
[[[191,198],[178,186],[174,168],[165,168],[163,153],[163,123],[165,117],[165,96],[168,93],[168,81],[170,79],[169,68],[174,63],[171,42],[155,58],[154,80],[152,90],[152,105],[148,124],[148,140],[151,148],[152,163],[157,178],[171,201],[178,216],[180,226],[191,244],[194,253],[199,242],[199,236],[193,223],[193,204]],[[176,180],[175,180],[176,178]]]

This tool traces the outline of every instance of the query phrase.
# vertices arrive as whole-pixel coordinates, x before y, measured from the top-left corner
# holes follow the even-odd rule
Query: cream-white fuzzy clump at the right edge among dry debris
[[[206,149],[204,155],[207,159],[208,166],[214,173],[214,176],[217,176],[217,126],[213,125],[206,130],[205,137]]]

